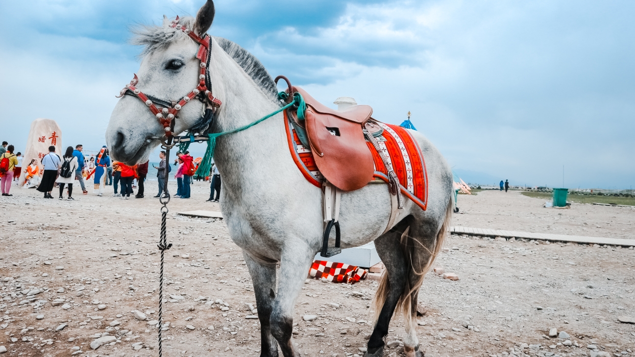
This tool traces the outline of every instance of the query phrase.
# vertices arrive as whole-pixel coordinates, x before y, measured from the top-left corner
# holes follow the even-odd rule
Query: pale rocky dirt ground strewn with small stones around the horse
[[[0,199],[0,352],[156,356],[160,215],[152,194],[69,202],[12,193]],[[170,203],[164,356],[258,356],[257,306],[248,305],[255,299],[240,250],[222,220],[175,214],[218,210],[207,196],[196,183],[192,198]],[[542,203],[518,192],[460,196],[453,225],[632,238],[631,208]],[[420,346],[425,356],[631,356],[635,325],[618,318],[635,316],[634,255],[628,247],[451,236],[435,266],[459,280],[425,279]],[[307,280],[294,319],[300,351],[363,354],[376,288],[372,280]],[[395,318],[385,356],[403,355],[403,335]]]

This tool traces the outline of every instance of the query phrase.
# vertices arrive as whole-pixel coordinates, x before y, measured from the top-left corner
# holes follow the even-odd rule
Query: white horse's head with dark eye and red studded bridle
[[[162,26],[135,31],[133,44],[144,50],[135,79],[121,91],[110,115],[106,142],[112,158],[134,165],[172,133],[206,130],[210,123],[204,121],[212,116],[215,103],[204,86],[208,79],[201,78],[206,63],[200,59],[203,44],[197,39],[210,39],[206,32],[214,13],[208,0],[196,18],[170,21],[164,16]]]

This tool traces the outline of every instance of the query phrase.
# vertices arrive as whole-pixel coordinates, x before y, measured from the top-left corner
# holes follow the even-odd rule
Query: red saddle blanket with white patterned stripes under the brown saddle
[[[304,97],[304,93],[302,95]],[[295,118],[291,118],[291,116],[293,116],[292,113],[284,111],[284,124],[291,157],[307,181],[317,187],[322,187],[325,175],[318,168],[314,151],[302,144],[303,140],[300,140],[300,137],[304,136],[305,133],[300,133],[300,136],[298,136],[297,123],[294,123]],[[338,121],[338,124],[340,123]],[[380,126],[382,130],[375,130],[375,135],[373,136],[379,142],[384,156],[389,158],[387,165],[396,173],[401,193],[420,206],[422,210],[425,210],[428,198],[428,179],[424,156],[417,142],[411,137],[408,130],[401,126],[381,123],[375,119],[371,119],[371,121],[365,119],[364,124],[366,124],[366,128],[373,125]],[[361,134],[360,124],[355,125]],[[302,130],[302,128],[298,129]],[[307,140],[304,141],[306,142]],[[373,144],[366,142],[366,140],[364,142],[372,158],[373,173],[362,187],[370,182],[388,183],[388,169],[384,165],[380,154],[375,150]],[[351,170],[351,168],[342,167],[340,170]],[[330,177],[328,175],[326,177],[331,182]]]

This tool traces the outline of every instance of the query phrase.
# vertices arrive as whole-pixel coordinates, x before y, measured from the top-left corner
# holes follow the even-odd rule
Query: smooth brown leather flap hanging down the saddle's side
[[[354,191],[370,182],[375,172],[373,155],[361,125],[307,107],[305,129],[319,171],[342,191]]]

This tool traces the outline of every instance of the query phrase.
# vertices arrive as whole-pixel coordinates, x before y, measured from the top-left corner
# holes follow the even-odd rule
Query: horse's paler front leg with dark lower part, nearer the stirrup
[[[314,256],[315,251],[299,241],[295,245],[286,244],[282,252],[278,291],[271,312],[271,333],[280,344],[284,357],[300,356],[291,338],[293,307]]]

